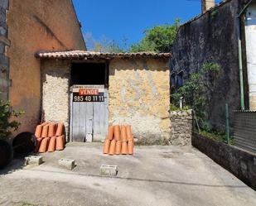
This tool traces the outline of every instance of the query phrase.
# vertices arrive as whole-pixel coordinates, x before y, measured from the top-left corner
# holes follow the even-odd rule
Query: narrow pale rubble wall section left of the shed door
[[[41,108],[46,122],[64,122],[65,137],[70,131],[70,64],[66,61],[41,62]]]

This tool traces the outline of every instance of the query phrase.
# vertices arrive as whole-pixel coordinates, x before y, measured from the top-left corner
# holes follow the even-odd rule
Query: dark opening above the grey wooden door
[[[71,67],[70,84],[108,85],[109,76],[104,63],[75,63]]]

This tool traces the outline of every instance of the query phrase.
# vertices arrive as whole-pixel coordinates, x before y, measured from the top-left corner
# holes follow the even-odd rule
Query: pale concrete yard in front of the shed
[[[41,154],[44,164],[14,160],[0,171],[0,205],[256,205],[256,192],[189,146],[136,146],[134,156],[105,156],[98,143],[69,143]],[[60,158],[74,159],[66,170]],[[99,176],[102,164],[117,177]]]

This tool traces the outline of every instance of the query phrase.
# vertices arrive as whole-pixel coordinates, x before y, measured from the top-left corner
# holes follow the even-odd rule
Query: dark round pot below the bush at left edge
[[[0,140],[0,169],[12,160],[12,146],[7,141]]]

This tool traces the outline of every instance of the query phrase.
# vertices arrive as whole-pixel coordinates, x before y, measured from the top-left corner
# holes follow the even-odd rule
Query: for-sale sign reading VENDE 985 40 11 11
[[[73,102],[104,102],[104,85],[74,85]]]

